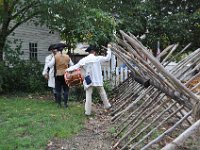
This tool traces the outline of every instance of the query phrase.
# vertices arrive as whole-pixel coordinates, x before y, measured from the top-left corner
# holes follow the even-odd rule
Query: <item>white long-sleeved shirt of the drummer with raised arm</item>
[[[83,67],[85,76],[91,76],[92,86],[103,86],[101,63],[109,61],[110,58],[111,50],[108,48],[106,56],[95,56],[94,54],[89,54],[88,56],[82,58],[76,65],[66,69],[66,71],[73,71]]]

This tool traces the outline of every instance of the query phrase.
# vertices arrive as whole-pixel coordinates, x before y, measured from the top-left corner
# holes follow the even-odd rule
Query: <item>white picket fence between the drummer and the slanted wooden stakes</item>
[[[113,88],[128,78],[127,67],[116,67],[115,70],[111,70],[110,67],[103,67],[102,69],[103,80],[110,81]]]

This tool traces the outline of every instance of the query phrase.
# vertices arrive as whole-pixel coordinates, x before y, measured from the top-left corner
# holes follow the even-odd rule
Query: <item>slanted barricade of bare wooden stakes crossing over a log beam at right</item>
[[[200,49],[167,71],[165,66],[190,44],[174,56],[178,44],[166,47],[159,55],[162,58],[159,62],[134,35],[120,33],[117,44],[112,45],[112,52],[131,73],[114,89],[111,120],[116,130],[116,141],[113,149],[171,150],[181,147],[186,137],[200,128],[200,92],[196,90],[200,83],[194,82],[200,77],[200,72],[197,72]],[[180,74],[185,65],[189,67]],[[183,83],[182,79],[189,75],[192,78]]]

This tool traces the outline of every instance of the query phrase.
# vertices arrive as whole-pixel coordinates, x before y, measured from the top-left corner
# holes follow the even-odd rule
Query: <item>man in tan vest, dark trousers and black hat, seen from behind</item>
[[[73,62],[69,55],[63,53],[63,49],[66,47],[66,44],[58,43],[54,46],[54,49],[57,50],[54,58],[48,63],[48,67],[55,69],[55,90],[56,90],[56,102],[58,107],[61,107],[61,91],[63,90],[64,96],[64,107],[68,107],[68,92],[69,87],[65,83],[64,73],[65,70],[73,65]]]

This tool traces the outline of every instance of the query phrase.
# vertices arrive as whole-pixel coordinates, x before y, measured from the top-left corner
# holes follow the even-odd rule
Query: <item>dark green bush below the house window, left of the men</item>
[[[14,65],[0,63],[0,93],[41,92],[47,88],[42,76],[43,65],[38,61],[21,60]]]

